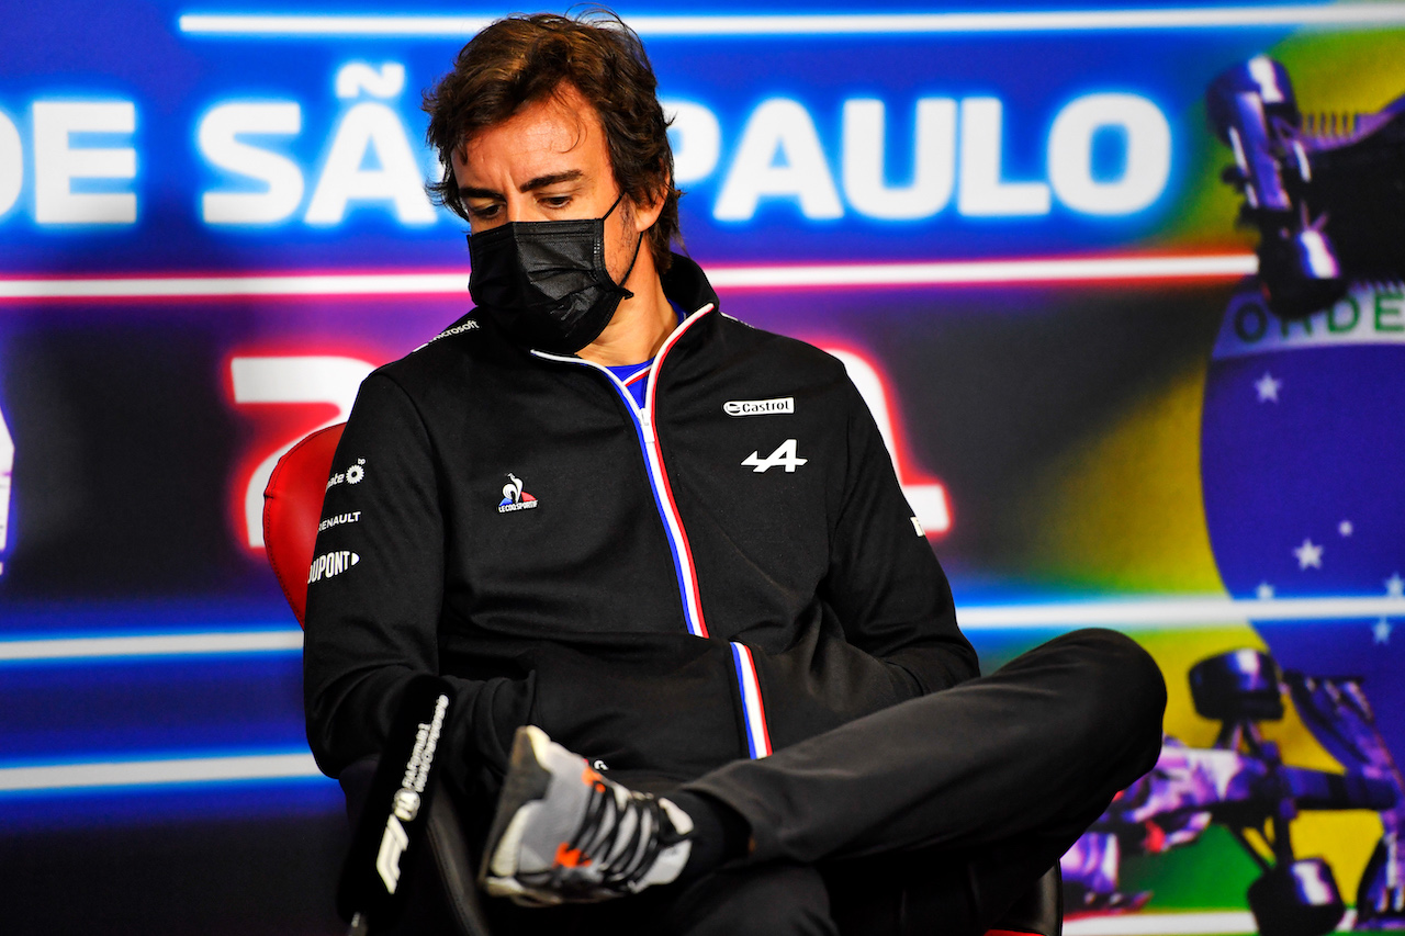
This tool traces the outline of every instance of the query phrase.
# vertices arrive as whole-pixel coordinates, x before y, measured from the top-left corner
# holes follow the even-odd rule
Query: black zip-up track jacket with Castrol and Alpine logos
[[[417,673],[458,684],[462,793],[517,725],[663,788],[976,675],[843,364],[697,309],[639,412],[607,371],[468,315],[361,385],[309,573],[308,738],[379,750]]]

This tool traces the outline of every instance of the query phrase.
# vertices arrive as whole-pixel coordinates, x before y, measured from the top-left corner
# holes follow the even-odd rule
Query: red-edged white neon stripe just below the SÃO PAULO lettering
[[[1034,257],[932,263],[708,267],[724,290],[982,285],[998,282],[1137,282],[1238,280],[1259,268],[1252,253]],[[225,297],[448,295],[468,290],[468,271],[268,273],[250,275],[0,277],[0,302],[17,299],[218,299]]]

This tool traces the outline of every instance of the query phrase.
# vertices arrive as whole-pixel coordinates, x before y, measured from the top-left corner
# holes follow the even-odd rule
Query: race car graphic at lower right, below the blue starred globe
[[[1354,926],[1405,929],[1405,784],[1360,683],[1280,673],[1272,656],[1245,648],[1193,666],[1190,693],[1197,714],[1221,722],[1220,736],[1208,749],[1168,738],[1156,767],[1064,856],[1068,911],[1139,909],[1151,894],[1118,888],[1121,857],[1190,845],[1214,822],[1262,871],[1246,895],[1259,932],[1322,936],[1340,923],[1346,904],[1331,863],[1298,856],[1290,824],[1307,810],[1374,810],[1384,833],[1356,892]],[[1284,693],[1345,773],[1287,765],[1264,739],[1259,722],[1283,718]]]

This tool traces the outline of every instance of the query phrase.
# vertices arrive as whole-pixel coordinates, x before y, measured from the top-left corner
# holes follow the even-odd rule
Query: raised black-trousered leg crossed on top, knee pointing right
[[[1155,765],[1165,707],[1161,670],[1134,641],[1075,631],[684,790],[750,824],[753,863],[957,857],[986,926]]]

